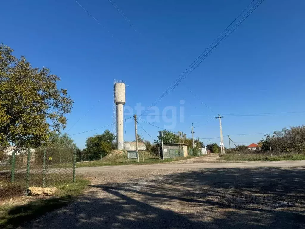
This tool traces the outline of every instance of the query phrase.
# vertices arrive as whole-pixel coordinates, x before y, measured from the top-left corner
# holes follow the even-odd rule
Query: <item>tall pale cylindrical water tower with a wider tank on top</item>
[[[115,97],[114,102],[117,104],[117,149],[124,149],[124,122],[123,111],[125,104],[125,84],[115,83]]]

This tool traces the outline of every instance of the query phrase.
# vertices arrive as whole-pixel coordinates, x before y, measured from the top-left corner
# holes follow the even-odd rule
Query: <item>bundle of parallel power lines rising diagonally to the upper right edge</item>
[[[239,14],[231,24],[201,53],[196,60],[150,105],[149,107],[154,106],[160,100],[162,100],[168,93],[170,93],[179,83],[181,83],[199,64],[202,63],[203,60],[206,59],[217,47],[220,45],[246,18],[263,2],[264,0],[259,0],[255,3],[228,31],[227,29],[239,18],[240,15],[246,9],[249,8],[250,5],[254,2],[254,0]],[[226,32],[225,32],[226,31]],[[222,35],[224,34],[224,35]],[[221,36],[222,35],[222,36]],[[218,41],[217,39],[221,37]],[[216,42],[217,41],[217,42]],[[208,51],[207,51],[208,50]],[[206,52],[207,51],[207,52]],[[205,53],[205,54],[204,54]],[[142,113],[144,114],[147,109]]]

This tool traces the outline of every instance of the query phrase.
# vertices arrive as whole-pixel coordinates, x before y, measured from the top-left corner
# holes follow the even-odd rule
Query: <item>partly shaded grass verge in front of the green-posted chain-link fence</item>
[[[45,213],[67,205],[77,196],[81,195],[89,183],[89,180],[77,177],[76,183],[67,183],[58,186],[59,190],[53,197],[33,199],[33,201],[22,205],[16,202],[0,205],[0,228],[18,227]]]

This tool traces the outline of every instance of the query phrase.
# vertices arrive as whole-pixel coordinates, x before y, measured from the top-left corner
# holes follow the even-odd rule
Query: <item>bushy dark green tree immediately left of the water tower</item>
[[[88,137],[86,140],[85,154],[97,154],[98,156],[103,151],[103,156],[109,153],[112,148],[112,142],[116,139],[116,136],[109,130],[105,130],[102,134],[95,134]]]

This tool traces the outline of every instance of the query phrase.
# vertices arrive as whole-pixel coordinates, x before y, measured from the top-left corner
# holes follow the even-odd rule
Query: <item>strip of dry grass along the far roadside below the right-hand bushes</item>
[[[295,161],[305,160],[304,154],[224,154],[219,160],[225,161]]]

